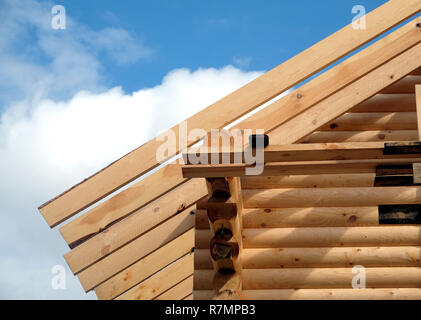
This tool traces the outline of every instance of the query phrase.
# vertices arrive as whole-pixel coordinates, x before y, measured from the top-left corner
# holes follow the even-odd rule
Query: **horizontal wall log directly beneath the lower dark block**
[[[206,233],[201,236],[206,237]],[[243,245],[244,248],[419,246],[421,227],[244,229]]]

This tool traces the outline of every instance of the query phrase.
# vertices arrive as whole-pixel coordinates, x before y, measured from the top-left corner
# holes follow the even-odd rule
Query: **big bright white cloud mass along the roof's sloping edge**
[[[67,101],[22,101],[0,124],[0,298],[83,298],[53,291],[50,269],[68,251],[36,208],[74,183],[260,75],[228,66],[179,69],[162,84],[125,94],[79,92]],[[16,247],[11,247],[11,243]]]

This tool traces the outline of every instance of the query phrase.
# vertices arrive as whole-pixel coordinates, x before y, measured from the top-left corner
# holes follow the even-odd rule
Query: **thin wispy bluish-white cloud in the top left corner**
[[[28,96],[100,92],[106,88],[101,55],[127,65],[152,53],[124,29],[92,30],[69,12],[66,29],[52,29],[52,2],[3,0],[0,6],[0,109]]]

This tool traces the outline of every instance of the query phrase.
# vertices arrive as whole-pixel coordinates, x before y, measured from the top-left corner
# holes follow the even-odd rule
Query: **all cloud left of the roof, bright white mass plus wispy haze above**
[[[178,69],[153,88],[110,89],[102,53],[121,65],[151,49],[69,12],[67,29],[52,30],[51,7],[0,0],[0,299],[94,298],[68,269],[67,290],[52,290],[51,268],[66,266],[69,248],[36,208],[261,74]]]

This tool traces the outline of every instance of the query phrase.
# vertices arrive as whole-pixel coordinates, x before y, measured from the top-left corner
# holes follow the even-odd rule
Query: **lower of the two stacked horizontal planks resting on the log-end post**
[[[420,158],[267,163],[261,176],[374,173],[379,165],[412,165]],[[185,177],[246,176],[245,164],[185,165]]]

